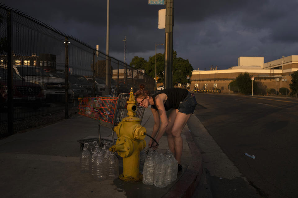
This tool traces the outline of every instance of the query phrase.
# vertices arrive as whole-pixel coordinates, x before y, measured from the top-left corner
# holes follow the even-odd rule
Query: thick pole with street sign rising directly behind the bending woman
[[[173,87],[173,0],[165,0],[165,89]]]

